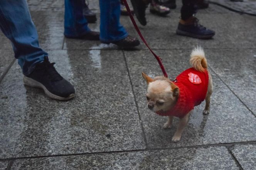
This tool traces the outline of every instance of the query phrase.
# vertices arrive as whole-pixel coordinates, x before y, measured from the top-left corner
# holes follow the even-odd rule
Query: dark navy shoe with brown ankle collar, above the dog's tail
[[[178,35],[190,36],[199,39],[209,39],[215,35],[214,31],[208,30],[204,26],[200,25],[197,18],[194,18],[194,24],[192,25],[179,23],[176,33]]]

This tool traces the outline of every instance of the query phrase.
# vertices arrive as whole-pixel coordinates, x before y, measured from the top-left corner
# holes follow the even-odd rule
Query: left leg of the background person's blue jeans
[[[88,33],[90,28],[83,15],[84,0],[65,0],[64,35],[77,37]]]

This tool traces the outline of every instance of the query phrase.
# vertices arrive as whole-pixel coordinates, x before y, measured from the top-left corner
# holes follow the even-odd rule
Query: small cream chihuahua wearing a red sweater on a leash
[[[175,81],[164,76],[154,79],[142,72],[147,81],[147,105],[150,110],[161,116],[168,116],[163,128],[172,126],[173,117],[179,117],[179,125],[172,137],[178,142],[189,121],[189,113],[194,106],[205,100],[203,114],[209,114],[210,97],[213,91],[212,77],[207,70],[207,61],[204,50],[200,47],[192,50],[190,64],[192,68],[183,71]]]

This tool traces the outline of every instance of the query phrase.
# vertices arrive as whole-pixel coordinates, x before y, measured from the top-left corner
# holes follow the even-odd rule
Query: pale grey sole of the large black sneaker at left
[[[55,100],[66,101],[66,100],[72,99],[75,96],[75,94],[70,94],[68,97],[61,97],[61,96],[57,96],[55,94],[52,94],[51,92],[49,92],[46,89],[46,87],[43,84],[41,84],[38,81],[35,81],[34,79],[31,79],[27,76],[24,76],[23,82],[24,82],[25,85],[27,85],[29,87],[35,87],[35,88],[43,89],[45,94],[48,97],[50,97],[52,99],[55,99]]]

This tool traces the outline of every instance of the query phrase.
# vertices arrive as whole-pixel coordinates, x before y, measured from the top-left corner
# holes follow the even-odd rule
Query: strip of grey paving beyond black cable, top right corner
[[[217,3],[237,12],[244,12],[251,15],[256,15],[256,1],[255,0],[241,0],[241,2],[232,2],[231,0],[210,0],[212,3]]]

